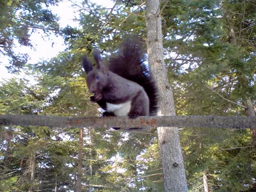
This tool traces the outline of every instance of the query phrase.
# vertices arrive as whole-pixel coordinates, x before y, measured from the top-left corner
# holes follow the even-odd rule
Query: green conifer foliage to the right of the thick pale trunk
[[[174,28],[164,44],[177,54],[166,63],[178,115],[241,116],[245,111],[237,104],[248,97],[255,104],[255,35],[248,33],[255,32],[255,25],[246,31],[244,24],[255,20],[255,6],[249,4],[186,1],[181,29]],[[182,44],[175,40],[177,33]],[[250,131],[184,129],[180,134],[191,191],[204,191],[204,172],[210,191],[253,188],[255,143]]]

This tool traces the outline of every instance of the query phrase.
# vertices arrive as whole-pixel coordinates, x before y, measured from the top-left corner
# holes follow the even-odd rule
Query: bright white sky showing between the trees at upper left
[[[80,4],[79,2],[81,1],[82,0],[74,0],[73,2]],[[106,8],[111,8],[113,6],[113,1],[109,0],[93,0],[91,2],[102,4]],[[72,20],[75,16],[78,18],[79,14],[76,11],[76,7],[72,7],[71,5],[72,3],[70,1],[64,0],[59,3],[58,6],[53,6],[51,8],[52,12],[60,17],[61,28],[65,28],[67,25],[72,27],[79,27],[79,23]],[[15,47],[15,52],[29,54],[31,59],[28,61],[28,63],[36,63],[42,60],[49,60],[56,56],[58,52],[61,52],[65,49],[64,41],[61,36],[56,37],[51,35],[49,38],[45,38],[44,40],[40,34],[34,33],[31,36],[31,42],[34,45],[36,51],[29,49],[29,47],[20,47],[19,45]],[[53,47],[52,42],[54,42]],[[4,63],[8,63],[8,58],[3,58],[3,56],[0,55],[0,81],[2,79],[13,77],[12,74],[8,74],[6,68],[3,65]]]

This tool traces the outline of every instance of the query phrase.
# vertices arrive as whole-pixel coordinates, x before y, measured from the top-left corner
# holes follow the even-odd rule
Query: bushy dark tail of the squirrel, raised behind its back
[[[151,116],[157,113],[158,89],[154,79],[145,65],[145,52],[140,40],[130,38],[125,40],[116,52],[116,56],[109,59],[108,69],[117,74],[140,84],[148,95]]]

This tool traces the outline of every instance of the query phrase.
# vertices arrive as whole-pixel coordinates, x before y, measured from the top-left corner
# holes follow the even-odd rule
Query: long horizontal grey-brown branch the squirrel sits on
[[[0,115],[0,125],[33,125],[46,127],[208,127],[256,129],[256,116],[126,116],[67,117],[44,115]],[[138,129],[137,129],[138,130]]]

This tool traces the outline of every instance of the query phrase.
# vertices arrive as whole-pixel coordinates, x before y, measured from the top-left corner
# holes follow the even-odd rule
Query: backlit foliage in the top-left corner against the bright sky
[[[58,0],[0,2],[0,52],[10,60],[10,65],[6,65],[8,70],[15,72],[28,61],[28,54],[13,51],[17,43],[33,47],[30,38],[38,29],[45,35],[59,33],[58,18],[49,9],[57,3]]]

